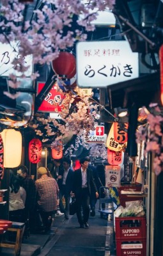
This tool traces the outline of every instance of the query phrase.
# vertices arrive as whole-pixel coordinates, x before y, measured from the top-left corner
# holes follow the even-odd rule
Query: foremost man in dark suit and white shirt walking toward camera
[[[95,193],[95,196],[98,198],[98,191],[93,179],[93,173],[88,168],[88,159],[82,158],[80,164],[81,168],[74,172],[72,196],[75,196],[77,204],[77,220],[79,221],[80,227],[84,228],[85,226],[86,228],[89,228],[89,197],[91,193]]]

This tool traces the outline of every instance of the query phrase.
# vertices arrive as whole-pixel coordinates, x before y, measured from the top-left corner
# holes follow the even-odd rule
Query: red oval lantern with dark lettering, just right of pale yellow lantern
[[[33,139],[29,142],[29,161],[37,164],[41,160],[42,155],[42,141]]]

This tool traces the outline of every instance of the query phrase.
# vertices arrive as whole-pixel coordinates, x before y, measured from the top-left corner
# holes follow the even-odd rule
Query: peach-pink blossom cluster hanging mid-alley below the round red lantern
[[[64,108],[59,112],[61,120],[49,116],[45,118],[43,115],[32,120],[29,126],[42,137],[42,142],[54,141],[56,138],[62,140],[69,136],[70,132],[74,135],[88,136],[89,131],[95,129],[98,105],[92,103],[90,97],[81,91],[77,87],[65,93],[62,100]]]

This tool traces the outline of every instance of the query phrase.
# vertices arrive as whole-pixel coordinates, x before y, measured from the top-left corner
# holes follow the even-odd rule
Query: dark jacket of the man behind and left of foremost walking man
[[[59,175],[62,176],[61,179],[58,179],[58,186],[59,186],[59,189],[62,188],[62,182],[63,182],[63,173],[64,173],[64,170],[61,169],[59,170]],[[66,177],[66,193],[70,193],[72,191],[72,186],[73,186],[73,180],[74,180],[74,170],[72,170],[70,168],[70,170],[68,171],[68,175]]]

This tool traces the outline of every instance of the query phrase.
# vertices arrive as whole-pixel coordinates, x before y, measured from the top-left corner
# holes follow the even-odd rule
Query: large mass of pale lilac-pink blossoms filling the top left
[[[2,0],[0,42],[19,42],[12,64],[15,70],[25,72],[28,67],[24,57],[33,54],[34,64],[50,63],[58,58],[60,49],[73,47],[77,40],[86,40],[83,31],[95,29],[91,22],[97,19],[98,10],[113,8],[113,4],[114,0],[92,0],[88,4],[76,0],[43,0],[33,10],[33,6],[19,0]],[[33,10],[30,21],[27,8]]]

